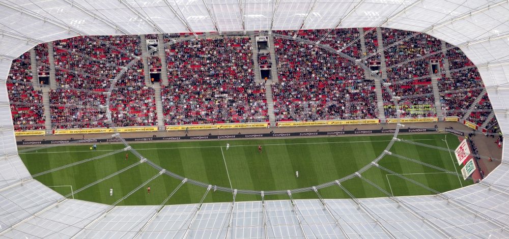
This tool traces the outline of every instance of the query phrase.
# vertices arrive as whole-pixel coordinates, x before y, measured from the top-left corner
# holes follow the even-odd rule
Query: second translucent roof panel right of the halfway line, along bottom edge
[[[288,200],[265,201],[267,231],[274,238],[303,238],[297,215]]]

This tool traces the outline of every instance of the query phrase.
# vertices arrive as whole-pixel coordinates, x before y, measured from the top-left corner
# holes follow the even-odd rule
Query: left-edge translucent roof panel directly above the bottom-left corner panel
[[[29,180],[0,191],[0,226],[5,228],[56,204],[63,196]]]

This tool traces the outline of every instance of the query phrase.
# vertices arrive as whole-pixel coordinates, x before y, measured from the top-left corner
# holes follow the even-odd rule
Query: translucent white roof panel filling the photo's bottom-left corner
[[[67,199],[4,233],[8,238],[69,238],[95,220],[108,205]]]

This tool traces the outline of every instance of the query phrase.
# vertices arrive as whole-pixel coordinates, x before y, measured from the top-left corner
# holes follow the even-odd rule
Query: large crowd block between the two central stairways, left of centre
[[[176,43],[166,50],[166,62],[169,85],[161,89],[166,125],[268,121],[249,38]]]

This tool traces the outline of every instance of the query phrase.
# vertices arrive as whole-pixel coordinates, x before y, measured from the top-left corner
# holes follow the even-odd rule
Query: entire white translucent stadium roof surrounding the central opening
[[[509,237],[509,144],[482,183],[438,195],[110,206],[67,199],[33,180],[14,138],[12,59],[79,35],[252,32],[383,26],[460,47],[509,131],[509,1],[0,0],[0,237]],[[506,150],[507,149],[507,150]]]

